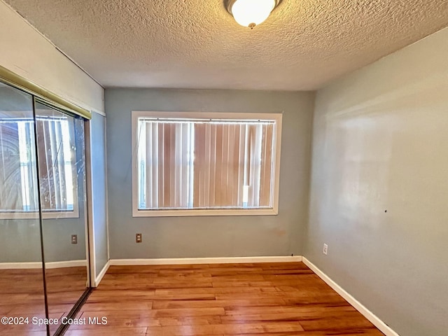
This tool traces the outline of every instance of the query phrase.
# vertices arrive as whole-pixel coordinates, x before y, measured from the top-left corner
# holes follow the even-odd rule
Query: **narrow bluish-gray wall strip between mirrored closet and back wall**
[[[92,215],[94,230],[94,257],[98,275],[109,260],[107,251],[106,204],[106,118],[92,113],[90,121],[92,162]]]

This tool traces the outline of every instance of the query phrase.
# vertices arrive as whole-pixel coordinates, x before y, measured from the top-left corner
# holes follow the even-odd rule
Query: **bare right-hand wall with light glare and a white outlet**
[[[448,330],[447,42],[444,29],[316,96],[304,255],[402,336]]]

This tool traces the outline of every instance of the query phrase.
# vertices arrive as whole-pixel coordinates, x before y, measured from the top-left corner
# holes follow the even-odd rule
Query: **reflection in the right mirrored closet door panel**
[[[84,123],[39,102],[35,109],[48,315],[60,321],[88,286]]]

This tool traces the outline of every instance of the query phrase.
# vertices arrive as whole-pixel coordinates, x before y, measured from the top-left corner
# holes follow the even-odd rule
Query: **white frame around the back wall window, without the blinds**
[[[282,113],[216,113],[216,112],[160,112],[132,111],[132,217],[176,217],[176,216],[275,216],[279,214],[280,152]],[[138,118],[181,118],[181,119],[231,119],[231,120],[276,120],[274,137],[274,186],[272,208],[269,209],[179,209],[139,210],[138,181]]]

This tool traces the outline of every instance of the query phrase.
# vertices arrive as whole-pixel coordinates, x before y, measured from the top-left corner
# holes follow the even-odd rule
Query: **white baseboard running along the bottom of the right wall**
[[[359,311],[367,320],[372,322],[372,324],[377,327],[381,332],[384,333],[386,336],[400,336],[395,331],[392,330],[391,327],[386,325],[381,319],[372,313],[369,309],[367,309],[362,303],[360,303],[356,298],[351,296],[349,293],[344,290],[341,286],[339,286],[335,281],[333,281],[330,276],[323,273],[321,269],[318,269],[316,265],[314,265],[311,261],[309,261],[307,258],[302,257],[302,261],[305,265],[307,265],[311,271],[316,273],[316,275],[321,278],[325,283],[328,284],[332,289],[334,289],[339,295],[344,297],[344,299],[349,302],[357,311]]]

